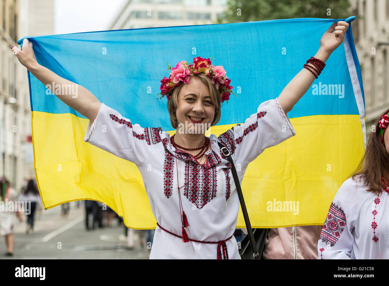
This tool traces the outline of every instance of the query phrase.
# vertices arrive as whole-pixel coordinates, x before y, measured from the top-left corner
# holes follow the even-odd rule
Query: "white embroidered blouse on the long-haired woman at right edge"
[[[319,259],[389,258],[389,194],[366,189],[360,176],[340,186],[317,244]]]

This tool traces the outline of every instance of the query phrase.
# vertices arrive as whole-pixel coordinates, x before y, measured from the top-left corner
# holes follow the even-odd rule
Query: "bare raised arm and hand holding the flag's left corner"
[[[55,94],[55,86],[71,87],[73,84],[77,85],[77,89],[68,88],[67,90],[77,90],[76,95],[72,94],[55,94],[66,105],[72,107],[72,109],[78,111],[83,116],[87,117],[90,121],[94,121],[101,106],[101,102],[83,86],[76,84],[72,81],[68,81],[63,77],[55,74],[51,70],[42,65],[39,65],[35,58],[34,51],[32,49],[32,42],[28,39],[23,40],[23,48],[20,50],[16,46],[11,46],[12,52],[18,57],[19,62],[24,65],[30,73],[32,73],[39,81],[45,86],[48,86],[50,91]],[[54,82],[54,86],[53,86]],[[66,90],[62,89],[61,91]]]

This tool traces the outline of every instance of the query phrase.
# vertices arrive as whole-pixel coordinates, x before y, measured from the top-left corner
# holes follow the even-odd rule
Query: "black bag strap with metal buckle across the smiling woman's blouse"
[[[220,147],[221,151],[223,151],[224,155],[226,155],[227,160],[232,165],[232,168],[231,168],[232,175],[234,177],[235,186],[237,187],[240,207],[242,207],[243,217],[244,217],[244,221],[246,223],[246,228],[247,228],[247,234],[249,236],[250,245],[251,245],[251,249],[253,252],[252,255],[254,256],[254,259],[259,259],[259,253],[258,253],[257,245],[255,243],[254,234],[252,233],[249,214],[247,214],[246,204],[244,203],[242,189],[240,188],[240,182],[239,182],[237,170],[235,169],[234,162],[232,161],[232,158],[230,155],[230,150],[228,150],[228,148],[223,146],[223,144],[221,144],[220,142],[217,142],[217,143],[219,143],[219,147]]]

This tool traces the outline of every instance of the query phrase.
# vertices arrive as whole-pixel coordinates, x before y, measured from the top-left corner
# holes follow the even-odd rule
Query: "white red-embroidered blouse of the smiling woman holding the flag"
[[[102,132],[102,126],[106,126]],[[231,163],[220,151],[217,140],[231,153],[242,182],[248,163],[265,148],[275,146],[295,135],[289,118],[277,98],[259,105],[243,124],[237,124],[219,137],[210,135],[211,148],[204,164],[170,143],[170,134],[159,128],[143,128],[102,104],[95,121],[89,121],[84,141],[120,158],[135,163],[142,174],[152,213],[159,225],[177,235],[182,234],[177,189],[180,188],[182,209],[189,226],[190,239],[219,242],[234,233],[237,225],[239,198],[231,172]],[[177,166],[175,163],[177,156]],[[147,171],[147,165],[152,171]],[[177,174],[178,170],[178,174]],[[240,259],[237,241],[232,236],[225,242],[229,259]],[[218,244],[182,242],[182,239],[158,226],[150,258],[216,259]]]

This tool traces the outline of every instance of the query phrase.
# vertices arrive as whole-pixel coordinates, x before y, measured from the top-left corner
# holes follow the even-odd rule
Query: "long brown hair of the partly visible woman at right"
[[[389,109],[377,118],[375,130],[370,133],[363,158],[354,173],[349,176],[355,179],[356,176],[361,175],[364,185],[368,188],[367,191],[373,191],[377,195],[382,191],[381,178],[384,177],[385,181],[389,181],[389,153],[386,151],[385,143],[381,142],[379,124],[382,116],[388,112]]]

